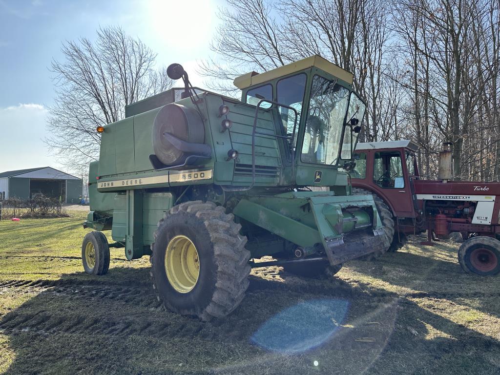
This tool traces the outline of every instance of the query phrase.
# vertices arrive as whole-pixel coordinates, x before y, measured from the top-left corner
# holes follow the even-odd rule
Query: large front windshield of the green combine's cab
[[[348,103],[347,88],[314,75],[302,143],[302,161],[336,163]]]

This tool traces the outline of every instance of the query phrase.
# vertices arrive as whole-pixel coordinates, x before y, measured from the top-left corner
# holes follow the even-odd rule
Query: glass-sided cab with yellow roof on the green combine
[[[297,165],[296,183],[333,185],[322,177],[334,178],[352,160],[366,108],[352,91],[352,74],[315,55],[246,73],[234,84],[243,102],[276,111],[279,135]]]

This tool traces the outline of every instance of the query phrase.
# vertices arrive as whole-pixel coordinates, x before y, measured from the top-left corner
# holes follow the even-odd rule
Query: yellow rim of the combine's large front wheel
[[[198,251],[185,235],[176,235],[165,249],[165,272],[168,282],[179,293],[187,293],[199,276]]]

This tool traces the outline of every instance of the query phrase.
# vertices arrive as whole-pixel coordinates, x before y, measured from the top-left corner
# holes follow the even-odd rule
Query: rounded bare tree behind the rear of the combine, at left
[[[156,54],[120,27],[97,30],[87,38],[62,44],[63,61],[53,60],[56,85],[46,144],[60,162],[86,172],[99,154],[96,127],[124,117],[125,105],[171,87],[166,69],[154,68]]]

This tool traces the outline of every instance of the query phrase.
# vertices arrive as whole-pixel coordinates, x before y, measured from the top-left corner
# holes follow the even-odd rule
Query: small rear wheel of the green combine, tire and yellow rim
[[[91,231],[83,237],[81,244],[83,269],[90,274],[105,274],[109,269],[109,245],[106,236],[98,231]]]

